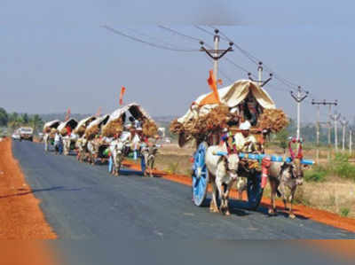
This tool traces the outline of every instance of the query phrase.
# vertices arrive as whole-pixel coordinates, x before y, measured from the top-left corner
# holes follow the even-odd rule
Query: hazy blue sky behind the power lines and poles
[[[209,24],[276,74],[310,90],[312,97],[337,98],[338,111],[352,121],[355,3],[288,2],[2,0],[0,105],[21,113],[63,113],[67,107],[72,113],[96,113],[99,106],[109,113],[118,107],[119,91],[125,86],[126,103],[136,101],[153,115],[183,114],[193,99],[209,91],[206,80],[212,62],[206,54],[155,49],[99,26],[129,35],[138,31],[140,38],[153,43],[198,50],[199,43],[157,25],[211,44],[211,35],[192,26]],[[227,43],[222,42],[223,47]],[[227,57],[256,74],[256,65],[240,51]],[[220,69],[228,79],[247,78],[225,59]],[[295,116],[287,86],[273,80],[266,90]],[[303,106],[303,120],[314,121],[310,100]],[[323,120],[326,113],[324,108]]]

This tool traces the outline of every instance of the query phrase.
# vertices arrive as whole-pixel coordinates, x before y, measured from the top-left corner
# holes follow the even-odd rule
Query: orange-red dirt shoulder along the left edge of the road
[[[0,238],[56,238],[38,203],[12,157],[10,139],[4,139],[0,142]]]

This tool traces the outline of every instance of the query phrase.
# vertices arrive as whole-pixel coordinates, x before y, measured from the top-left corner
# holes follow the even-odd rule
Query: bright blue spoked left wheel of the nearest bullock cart
[[[209,186],[209,170],[205,163],[208,147],[207,143],[201,143],[193,157],[193,203],[198,207],[205,202]]]

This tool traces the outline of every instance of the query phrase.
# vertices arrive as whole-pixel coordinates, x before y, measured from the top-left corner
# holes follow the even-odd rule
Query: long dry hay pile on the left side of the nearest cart
[[[227,122],[233,118],[227,105],[218,105],[208,114],[197,116],[190,121],[182,124],[174,120],[170,124],[170,131],[174,134],[185,133],[186,136],[192,135],[195,138],[207,135],[211,131],[218,131],[227,127]]]

